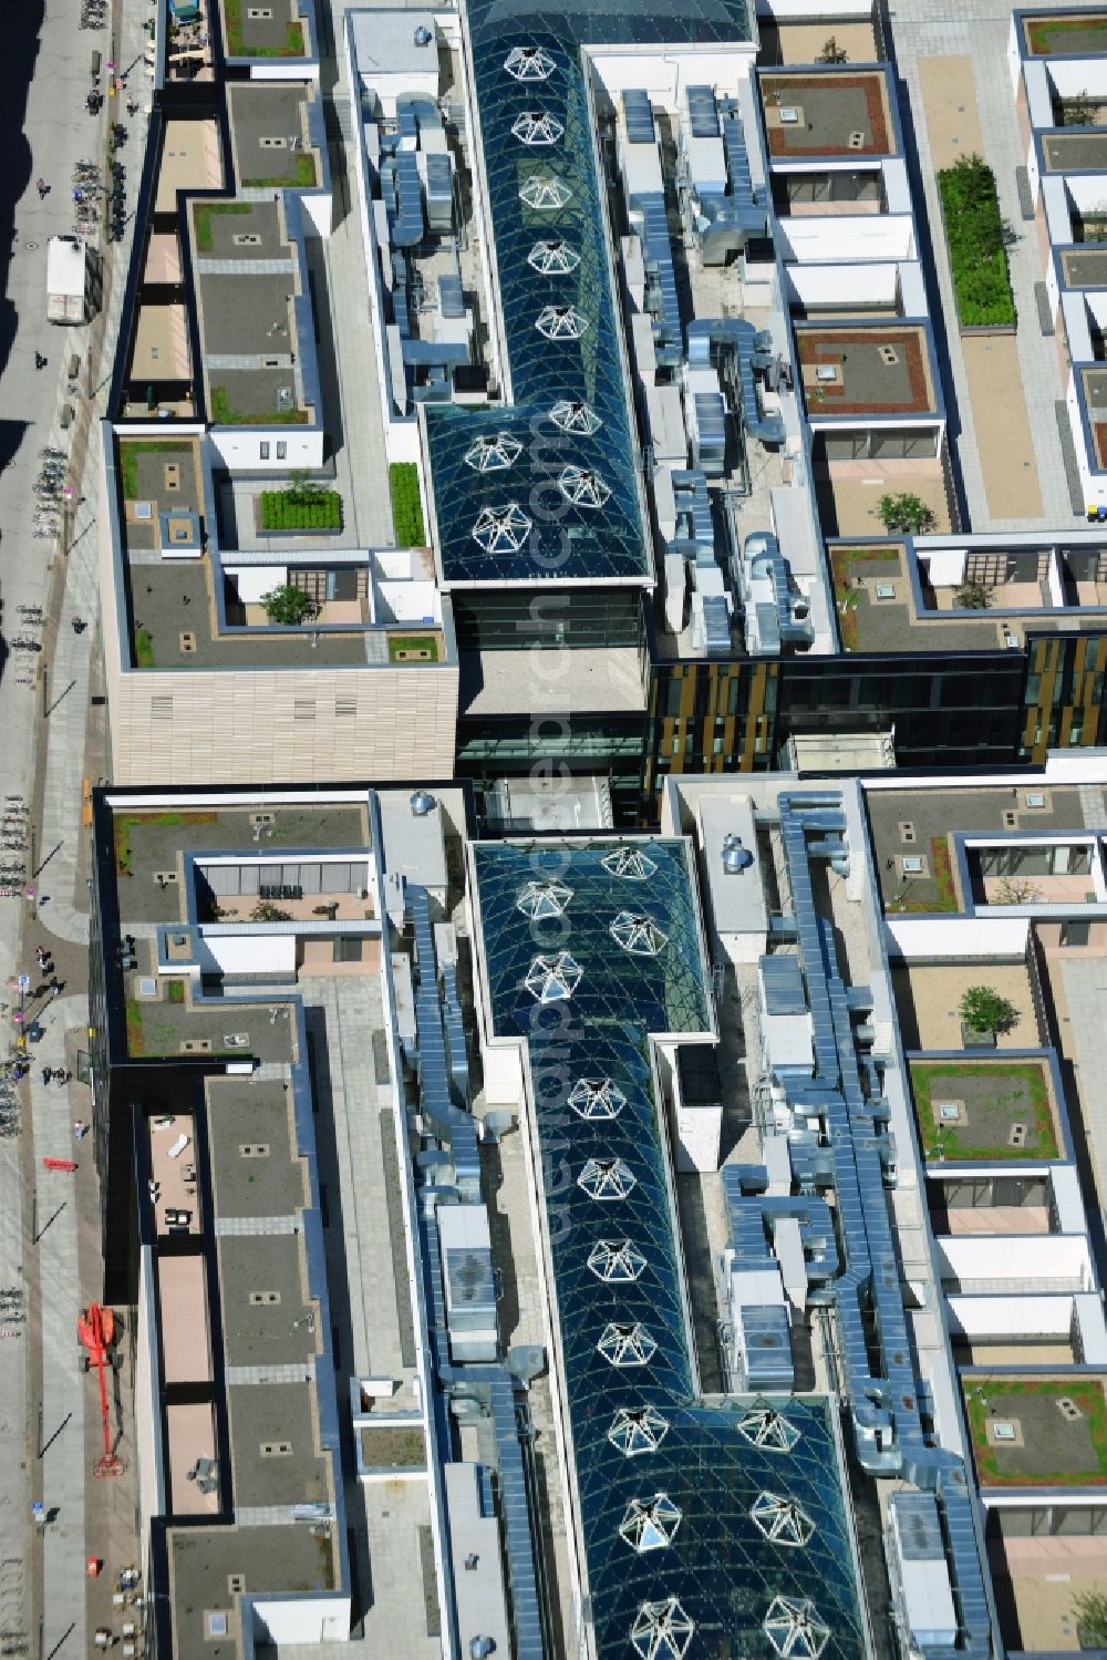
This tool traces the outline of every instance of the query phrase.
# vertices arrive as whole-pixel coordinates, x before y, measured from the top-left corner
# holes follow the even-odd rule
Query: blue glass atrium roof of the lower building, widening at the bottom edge
[[[827,1404],[695,1393],[647,1041],[710,1033],[685,845],[473,860],[493,1026],[529,1044],[597,1652],[861,1660]],[[533,915],[554,883],[558,915]],[[533,964],[559,956],[576,984],[544,1009]]]

